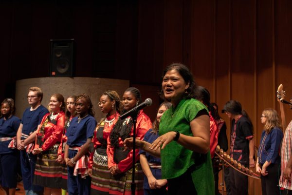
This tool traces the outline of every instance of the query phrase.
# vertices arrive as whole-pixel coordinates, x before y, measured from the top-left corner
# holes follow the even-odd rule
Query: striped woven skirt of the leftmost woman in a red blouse
[[[62,164],[56,162],[56,151],[45,151],[37,156],[34,184],[47,188],[61,188]]]

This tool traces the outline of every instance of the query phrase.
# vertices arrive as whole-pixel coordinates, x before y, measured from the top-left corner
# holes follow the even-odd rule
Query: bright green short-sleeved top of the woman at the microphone
[[[207,108],[196,99],[182,99],[176,108],[170,107],[161,117],[159,135],[178,131],[186,136],[193,136],[190,122],[198,112]],[[213,195],[214,176],[210,151],[200,154],[184,148],[176,141],[168,143],[161,150],[162,177],[166,179],[183,175],[189,167],[195,166],[191,175],[198,195]]]

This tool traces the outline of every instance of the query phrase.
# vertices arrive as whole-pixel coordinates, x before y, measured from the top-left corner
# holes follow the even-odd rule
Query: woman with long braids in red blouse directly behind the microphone
[[[123,95],[123,104],[125,113],[134,108],[141,101],[141,93],[137,88],[128,88]],[[136,124],[136,137],[143,139],[146,132],[152,127],[150,118],[143,112],[139,111]],[[108,163],[111,173],[110,178],[110,195],[131,195],[132,182],[132,157],[133,150],[124,151],[124,140],[133,136],[133,120],[127,117],[119,119],[108,138]],[[143,171],[139,162],[139,150],[135,151],[135,195],[143,195]]]

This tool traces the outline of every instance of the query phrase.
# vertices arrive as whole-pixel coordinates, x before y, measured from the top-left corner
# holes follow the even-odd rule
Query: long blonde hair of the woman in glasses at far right
[[[264,125],[264,130],[269,134],[271,130],[275,127],[281,129],[280,119],[277,111],[273,108],[266,108],[263,111],[263,115],[266,117],[266,124]]]

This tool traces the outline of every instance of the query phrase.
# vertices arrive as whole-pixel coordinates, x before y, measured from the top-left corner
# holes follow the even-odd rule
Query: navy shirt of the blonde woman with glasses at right
[[[266,161],[280,164],[279,148],[283,136],[282,130],[278,127],[272,129],[269,134],[266,134],[265,131],[262,132],[257,154],[259,164],[264,164]],[[262,143],[263,139],[265,139],[264,143]]]

